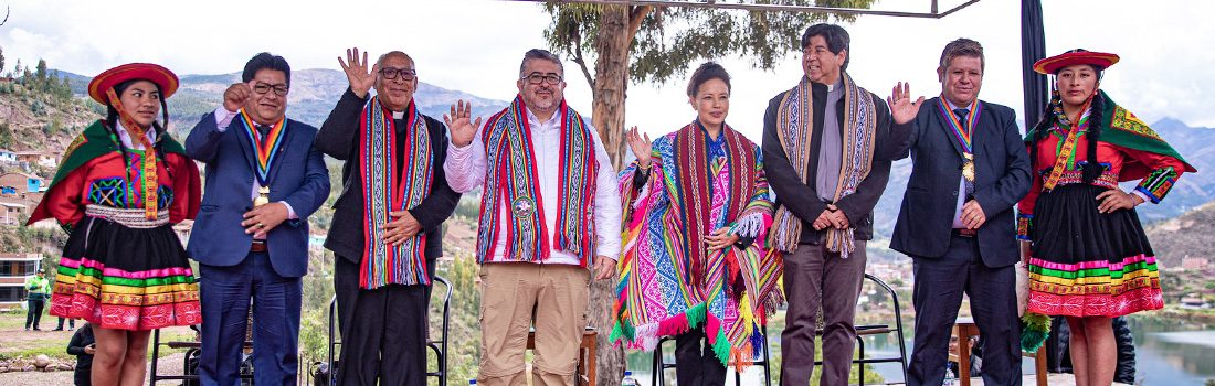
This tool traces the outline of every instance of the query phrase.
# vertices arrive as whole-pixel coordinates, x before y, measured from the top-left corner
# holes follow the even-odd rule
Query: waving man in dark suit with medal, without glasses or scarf
[[[1029,154],[1012,109],[978,100],[983,47],[957,39],[937,68],[942,96],[910,103],[894,89],[893,110],[919,108],[895,130],[914,168],[891,248],[915,263],[915,348],[909,386],[940,385],[962,294],[983,336],[983,385],[1021,385],[1012,206],[1029,192]],[[923,101],[923,97],[920,97]]]

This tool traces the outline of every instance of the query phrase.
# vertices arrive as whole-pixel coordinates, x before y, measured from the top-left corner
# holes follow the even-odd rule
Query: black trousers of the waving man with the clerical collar
[[[426,384],[426,310],[430,285],[358,288],[360,267],[334,259],[341,356],[338,385],[423,386]],[[426,267],[434,278],[435,260]]]

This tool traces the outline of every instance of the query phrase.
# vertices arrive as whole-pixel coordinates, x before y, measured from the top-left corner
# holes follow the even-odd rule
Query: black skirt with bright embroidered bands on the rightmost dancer
[[[1070,317],[1118,317],[1160,310],[1155,255],[1134,209],[1098,212],[1086,183],[1058,186],[1034,206],[1029,311]]]

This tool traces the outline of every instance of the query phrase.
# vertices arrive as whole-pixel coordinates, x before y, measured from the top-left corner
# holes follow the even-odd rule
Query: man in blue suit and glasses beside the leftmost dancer
[[[203,385],[239,385],[250,305],[254,382],[296,384],[307,216],[329,197],[329,172],[316,127],[284,117],[290,72],[283,57],[258,53],[186,138],[207,164],[186,248],[200,272]]]

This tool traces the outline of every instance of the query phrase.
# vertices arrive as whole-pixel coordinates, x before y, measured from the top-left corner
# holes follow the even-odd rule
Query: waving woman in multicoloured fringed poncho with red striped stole
[[[780,257],[762,245],[772,200],[759,147],[724,123],[730,75],[701,66],[688,97],[691,124],[652,143],[629,132],[638,158],[620,177],[626,246],[612,340],[652,350],[674,335],[679,385],[723,385],[728,361],[747,364],[763,345]]]

